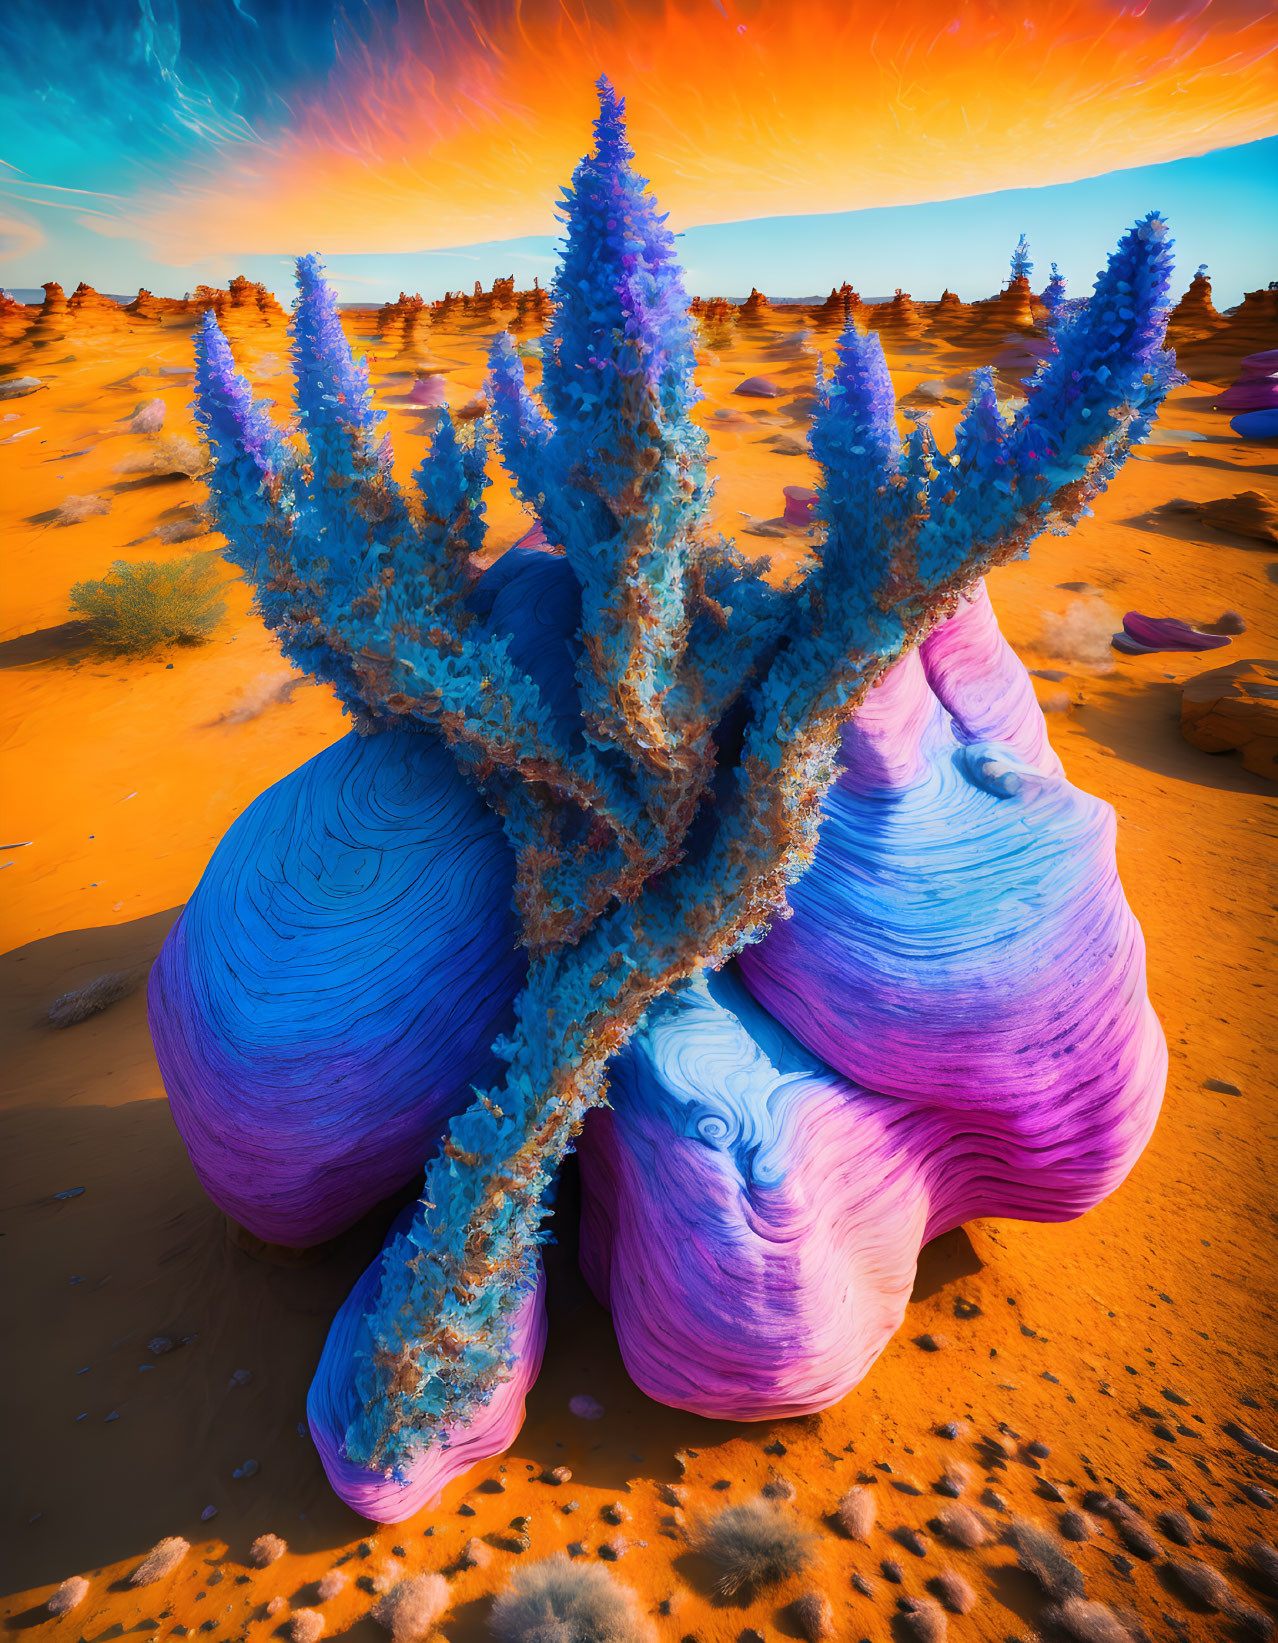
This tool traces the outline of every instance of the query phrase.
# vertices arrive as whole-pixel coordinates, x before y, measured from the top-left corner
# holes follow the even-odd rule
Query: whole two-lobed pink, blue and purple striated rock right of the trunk
[[[843,1397],[926,1239],[1081,1214],[1161,1101],[1114,815],[1064,780],[984,588],[843,749],[793,917],[650,1015],[578,1145],[626,1367],[715,1418]]]

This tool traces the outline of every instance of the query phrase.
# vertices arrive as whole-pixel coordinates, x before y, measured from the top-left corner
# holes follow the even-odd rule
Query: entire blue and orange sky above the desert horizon
[[[0,284],[348,301],[554,271],[593,81],[692,292],[1089,288],[1163,212],[1219,306],[1278,278],[1270,0],[43,0],[0,13]]]

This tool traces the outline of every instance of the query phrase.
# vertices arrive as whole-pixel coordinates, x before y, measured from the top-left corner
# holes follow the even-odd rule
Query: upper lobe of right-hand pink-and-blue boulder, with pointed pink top
[[[1114,813],[1061,775],[984,596],[871,695],[844,759],[793,915],[741,958],[759,1002],[846,1078],[1007,1134],[1068,1134],[1132,1079],[1156,1104]]]

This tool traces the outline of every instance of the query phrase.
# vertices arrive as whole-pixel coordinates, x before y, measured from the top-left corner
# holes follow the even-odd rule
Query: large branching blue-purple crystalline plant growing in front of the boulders
[[[1020,412],[982,373],[948,452],[922,419],[902,444],[879,338],[849,324],[816,383],[823,541],[779,588],[710,529],[687,302],[632,158],[601,82],[595,146],[563,196],[539,393],[509,337],[491,352],[501,458],[580,587],[577,716],[467,598],[485,429],[462,439],[445,416],[401,491],[314,258],[299,263],[291,427],[255,403],[212,317],[199,338],[212,506],[264,619],[368,729],[447,739],[516,853],[529,969],[496,1047],[506,1071],[427,1163],[353,1369],[345,1452],[378,1470],[402,1472],[509,1374],[547,1188],[609,1058],[649,1006],[784,909],[866,692],[966,585],[1086,508],[1173,371],[1156,215],[1061,322]],[[1028,273],[1023,242],[1017,255]]]

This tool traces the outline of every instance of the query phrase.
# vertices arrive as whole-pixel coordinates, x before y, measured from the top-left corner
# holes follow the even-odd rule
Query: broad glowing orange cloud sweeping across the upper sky
[[[1273,135],[1275,46],[1244,0],[425,5],[135,223],[172,263],[547,233],[600,72],[677,225],[1068,182]]]

